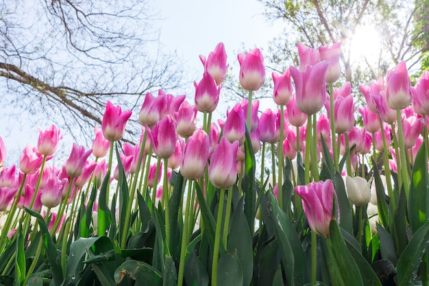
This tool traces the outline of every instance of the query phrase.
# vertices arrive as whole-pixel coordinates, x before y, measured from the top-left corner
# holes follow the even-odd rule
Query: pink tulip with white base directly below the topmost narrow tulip
[[[221,93],[221,86],[216,86],[216,82],[212,75],[205,71],[203,78],[195,86],[195,107],[199,112],[212,112],[217,108],[219,102],[219,93]]]

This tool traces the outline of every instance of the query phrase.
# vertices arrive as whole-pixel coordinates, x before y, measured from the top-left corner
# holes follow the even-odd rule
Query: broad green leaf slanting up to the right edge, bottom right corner
[[[429,243],[429,221],[419,228],[397,260],[397,281],[399,285],[414,285],[420,260]]]

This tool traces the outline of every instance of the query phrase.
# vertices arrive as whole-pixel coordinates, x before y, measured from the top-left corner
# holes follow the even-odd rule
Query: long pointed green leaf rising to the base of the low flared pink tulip
[[[340,228],[336,221],[332,220],[329,225],[330,239],[334,252],[334,259],[339,267],[339,273],[343,276],[343,281],[350,283],[347,285],[363,286],[363,279],[359,272],[358,265],[354,261],[352,254],[345,245],[341,236]],[[365,274],[364,274],[365,275]]]

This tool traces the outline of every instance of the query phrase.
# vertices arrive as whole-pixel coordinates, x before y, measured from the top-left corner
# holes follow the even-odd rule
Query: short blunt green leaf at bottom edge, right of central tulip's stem
[[[222,254],[217,265],[217,283],[222,286],[243,285],[243,270],[236,253]]]

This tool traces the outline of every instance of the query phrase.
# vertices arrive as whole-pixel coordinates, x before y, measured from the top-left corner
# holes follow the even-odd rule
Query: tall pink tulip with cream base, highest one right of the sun
[[[413,101],[411,81],[404,61],[397,64],[393,71],[387,72],[387,106],[392,109],[404,109]]]

